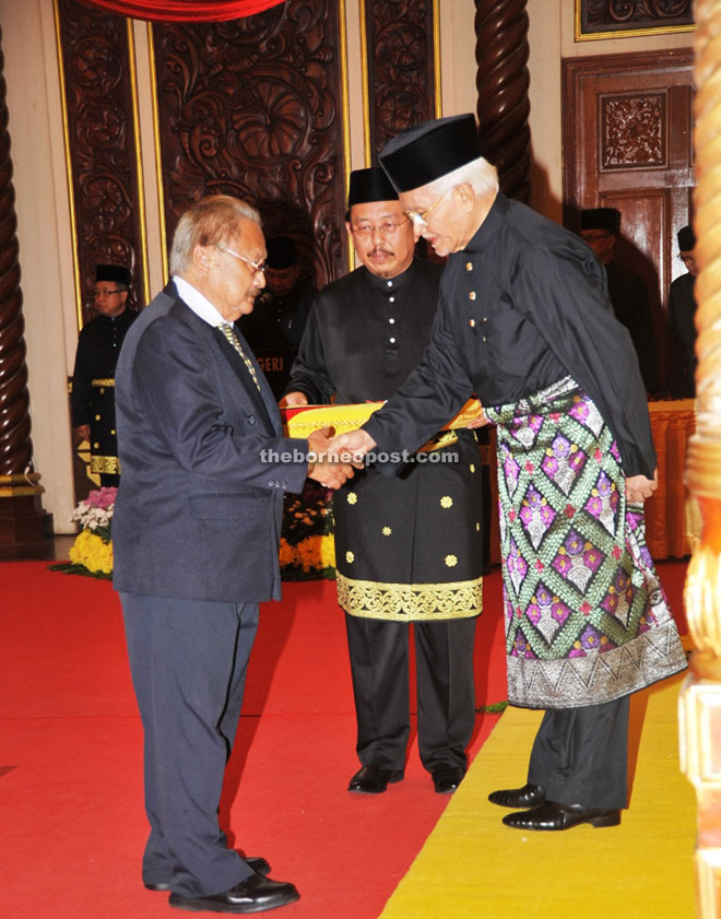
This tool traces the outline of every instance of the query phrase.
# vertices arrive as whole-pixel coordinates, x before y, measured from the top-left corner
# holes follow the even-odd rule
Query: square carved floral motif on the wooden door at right
[[[602,168],[665,164],[665,95],[602,98],[601,118]]]

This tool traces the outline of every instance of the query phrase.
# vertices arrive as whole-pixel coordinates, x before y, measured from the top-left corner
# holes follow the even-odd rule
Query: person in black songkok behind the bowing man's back
[[[658,355],[649,295],[640,275],[619,264],[615,258],[619,232],[620,212],[615,208],[581,211],[580,236],[606,270],[613,311],[630,333],[646,391],[655,392]]]

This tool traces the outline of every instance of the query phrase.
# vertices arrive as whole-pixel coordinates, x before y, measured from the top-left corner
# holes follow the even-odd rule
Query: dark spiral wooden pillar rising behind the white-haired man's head
[[[528,0],[475,0],[475,85],[486,160],[501,191],[528,201],[531,169]]]

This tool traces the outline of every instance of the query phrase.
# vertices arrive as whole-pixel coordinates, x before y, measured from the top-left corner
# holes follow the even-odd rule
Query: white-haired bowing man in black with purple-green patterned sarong
[[[380,154],[404,212],[449,256],[433,339],[339,450],[422,444],[475,392],[496,425],[508,699],[546,709],[527,785],[495,791],[520,829],[614,826],[628,698],[686,667],[645,540],[655,488],[646,392],[603,267],[498,190],[473,115]]]

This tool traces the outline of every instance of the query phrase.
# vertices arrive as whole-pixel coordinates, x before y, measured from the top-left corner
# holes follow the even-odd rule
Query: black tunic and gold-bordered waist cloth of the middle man
[[[395,278],[361,267],[326,286],[286,391],[318,404],[333,396],[339,403],[389,398],[430,341],[441,273],[415,259]],[[456,462],[440,461],[451,453]],[[434,459],[406,466],[394,482],[361,470],[334,493],[339,602],[351,615],[406,621],[481,611],[481,458],[472,433]]]

